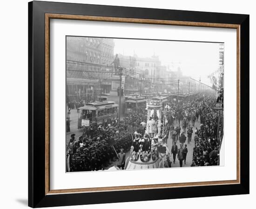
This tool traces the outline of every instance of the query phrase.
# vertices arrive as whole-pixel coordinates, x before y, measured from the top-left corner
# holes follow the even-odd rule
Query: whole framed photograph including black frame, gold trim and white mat
[[[249,15],[32,1],[28,205],[249,194]]]

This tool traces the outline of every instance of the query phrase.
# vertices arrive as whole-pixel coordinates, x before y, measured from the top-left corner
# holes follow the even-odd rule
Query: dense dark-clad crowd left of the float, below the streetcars
[[[85,129],[78,140],[72,134],[68,144],[70,171],[103,170],[117,156],[121,148],[126,152],[133,143],[128,126],[143,134],[141,121],[145,114],[135,113],[123,118],[118,124],[117,118],[108,118],[105,123],[93,123]]]

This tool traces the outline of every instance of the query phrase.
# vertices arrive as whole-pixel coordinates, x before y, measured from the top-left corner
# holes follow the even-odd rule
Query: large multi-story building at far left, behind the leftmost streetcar
[[[92,98],[109,91],[114,40],[94,37],[67,37],[67,100]],[[103,79],[103,81],[101,80]]]

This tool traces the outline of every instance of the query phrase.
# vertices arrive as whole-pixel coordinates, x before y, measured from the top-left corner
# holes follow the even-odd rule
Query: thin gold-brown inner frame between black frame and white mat
[[[191,183],[167,183],[167,184],[148,184],[135,186],[115,186],[115,187],[98,187],[98,188],[81,188],[81,189],[56,189],[50,190],[50,19],[65,20],[91,20],[91,21],[108,21],[124,23],[143,23],[175,26],[201,26],[201,27],[220,27],[236,29],[236,140],[237,140],[237,159],[236,159],[236,180],[228,181],[209,181],[209,182],[191,182]],[[240,25],[207,23],[207,22],[188,22],[173,20],[150,20],[150,19],[133,19],[133,18],[116,18],[101,16],[85,15],[68,15],[68,14],[45,14],[45,195],[60,193],[77,193],[77,192],[102,192],[102,191],[120,191],[135,189],[161,189],[174,187],[189,186],[209,186],[220,184],[239,184],[240,183]]]

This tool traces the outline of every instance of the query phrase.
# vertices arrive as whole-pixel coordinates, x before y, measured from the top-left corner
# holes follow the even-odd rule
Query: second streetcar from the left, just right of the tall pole
[[[128,96],[125,99],[125,114],[133,114],[134,112],[145,109],[147,106],[147,100],[144,97],[138,95]]]

